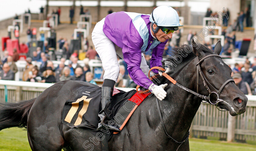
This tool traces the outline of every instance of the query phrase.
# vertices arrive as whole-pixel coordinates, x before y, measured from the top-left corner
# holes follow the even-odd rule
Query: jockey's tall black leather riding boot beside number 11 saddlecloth
[[[105,115],[105,106],[108,102],[110,102],[112,100],[112,95],[113,95],[113,89],[114,89],[114,84],[115,84],[115,81],[114,81],[114,84],[111,84],[113,83],[113,80],[110,81],[110,84],[109,84],[109,79],[105,79],[104,80],[104,83],[101,87],[101,112],[99,112],[98,116],[100,117],[100,123],[98,123],[98,128],[97,130],[100,130],[100,129],[105,129],[107,130],[108,129],[112,129],[112,130],[115,130],[115,131],[120,131],[119,128],[113,126],[113,125],[107,125],[104,123],[104,120],[107,118],[107,116]],[[108,87],[108,86],[105,86],[105,85],[109,85],[109,86],[112,86],[112,87]]]

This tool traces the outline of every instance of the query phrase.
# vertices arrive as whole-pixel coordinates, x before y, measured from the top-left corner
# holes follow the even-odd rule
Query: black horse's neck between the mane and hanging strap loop
[[[193,60],[183,67],[175,80],[191,90],[196,88],[196,67]],[[168,101],[159,101],[165,128],[174,139],[183,141],[201,102],[194,94],[174,84],[167,90],[166,97]]]

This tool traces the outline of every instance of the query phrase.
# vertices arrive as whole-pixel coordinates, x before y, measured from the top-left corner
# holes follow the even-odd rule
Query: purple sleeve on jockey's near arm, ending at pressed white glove
[[[134,81],[134,83],[147,88],[153,82],[148,79],[148,77],[142,72],[140,69],[141,63],[141,50],[140,48],[134,49],[128,46],[123,46],[123,58],[127,63],[127,69],[130,77]]]

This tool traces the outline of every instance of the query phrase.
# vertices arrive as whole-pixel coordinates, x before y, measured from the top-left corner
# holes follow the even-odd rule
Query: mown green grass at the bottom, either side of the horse
[[[256,145],[225,141],[189,139],[190,151],[256,151]],[[27,131],[10,128],[0,131],[0,151],[31,151]]]

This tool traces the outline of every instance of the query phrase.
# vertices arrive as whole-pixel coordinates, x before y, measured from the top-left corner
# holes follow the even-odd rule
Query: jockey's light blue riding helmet
[[[184,26],[180,25],[178,13],[170,6],[158,6],[152,11],[149,20],[157,26],[165,27],[171,30],[178,30],[179,26]],[[159,28],[157,28],[157,30],[158,29]]]

